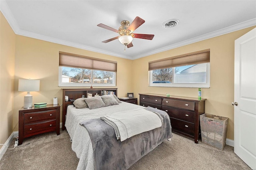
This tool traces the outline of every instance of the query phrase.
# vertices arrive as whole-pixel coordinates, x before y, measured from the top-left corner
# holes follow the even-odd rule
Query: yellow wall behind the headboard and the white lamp
[[[132,75],[127,71],[132,67],[132,60],[17,35],[14,124],[18,122],[17,111],[23,106],[23,98],[26,95],[26,92],[18,91],[18,79],[40,79],[40,91],[30,92],[33,96],[33,103],[46,102],[52,104],[53,98],[58,97],[58,103],[61,105],[62,88],[74,88],[58,87],[59,51],[117,61],[118,96],[126,96],[128,91],[132,91],[132,83],[128,81],[132,79]],[[62,120],[62,116],[60,120]],[[14,130],[18,130],[18,128]]]

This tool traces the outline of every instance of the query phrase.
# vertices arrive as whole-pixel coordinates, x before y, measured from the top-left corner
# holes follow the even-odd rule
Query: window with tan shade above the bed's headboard
[[[116,86],[115,61],[60,52],[59,86]]]

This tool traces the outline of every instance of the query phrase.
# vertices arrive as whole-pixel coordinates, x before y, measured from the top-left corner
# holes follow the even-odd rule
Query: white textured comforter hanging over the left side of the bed
[[[92,110],[89,108],[76,109],[72,105],[68,106],[65,127],[72,139],[72,150],[80,159],[77,170],[94,170],[92,142],[86,128],[79,125],[79,123],[88,119],[104,117],[109,113],[116,113],[124,110],[128,111],[136,108],[144,107],[126,102],[119,103],[119,105]]]

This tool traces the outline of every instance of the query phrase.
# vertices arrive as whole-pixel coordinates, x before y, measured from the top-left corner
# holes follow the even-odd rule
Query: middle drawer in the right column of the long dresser
[[[195,122],[195,113],[190,111],[184,111],[181,109],[174,109],[171,107],[162,106],[162,110],[166,111],[172,118],[181,119],[183,121]]]

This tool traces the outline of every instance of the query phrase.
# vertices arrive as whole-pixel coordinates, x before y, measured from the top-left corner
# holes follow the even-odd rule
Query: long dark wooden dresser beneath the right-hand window
[[[194,138],[198,143],[200,135],[199,116],[204,114],[206,99],[144,93],[140,95],[140,105],[166,111],[170,116],[172,131]]]

